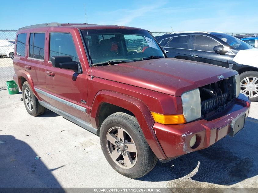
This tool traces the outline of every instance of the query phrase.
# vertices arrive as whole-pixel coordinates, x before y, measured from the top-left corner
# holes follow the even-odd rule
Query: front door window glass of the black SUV
[[[196,35],[194,38],[194,50],[214,52],[214,46],[221,45],[219,42],[207,36]]]

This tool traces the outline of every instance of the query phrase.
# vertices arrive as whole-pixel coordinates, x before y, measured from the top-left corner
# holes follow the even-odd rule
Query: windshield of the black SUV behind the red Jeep
[[[249,45],[248,43],[234,37],[231,35],[220,35],[217,36],[224,42],[226,42],[228,45],[230,45],[235,50],[247,50],[254,48],[253,46]]]

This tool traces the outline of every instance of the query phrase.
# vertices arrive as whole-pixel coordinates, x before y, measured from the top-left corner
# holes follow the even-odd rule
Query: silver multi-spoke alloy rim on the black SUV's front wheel
[[[258,77],[245,77],[240,81],[240,92],[249,98],[258,96]]]

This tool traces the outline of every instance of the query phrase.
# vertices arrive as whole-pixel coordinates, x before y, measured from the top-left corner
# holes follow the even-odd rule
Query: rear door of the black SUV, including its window
[[[189,60],[191,37],[192,35],[180,35],[171,38],[164,47],[166,51],[169,51],[166,55],[170,58]]]

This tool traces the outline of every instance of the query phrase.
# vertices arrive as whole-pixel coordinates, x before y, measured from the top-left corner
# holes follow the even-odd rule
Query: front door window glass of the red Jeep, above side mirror
[[[72,35],[50,33],[49,56],[70,56],[73,61],[79,61]]]

